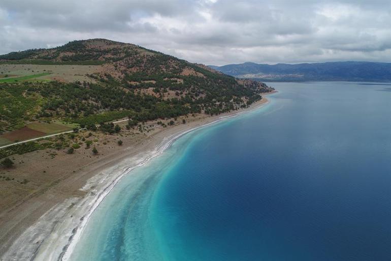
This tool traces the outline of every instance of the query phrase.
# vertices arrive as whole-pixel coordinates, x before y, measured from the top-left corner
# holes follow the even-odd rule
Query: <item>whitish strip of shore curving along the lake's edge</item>
[[[218,122],[237,117],[238,115],[254,111],[260,107],[263,107],[268,102],[269,102],[268,99],[263,98],[261,101],[259,101],[256,104],[253,104],[252,106],[250,106],[247,109],[243,109],[240,111],[234,111],[231,113],[227,113],[226,115],[222,115],[222,116],[210,117],[209,122],[207,122],[205,124],[202,124],[202,125],[196,126],[196,127],[190,127],[185,130],[174,133],[174,134],[170,135],[169,137],[162,138],[160,143],[152,151],[148,151],[144,155],[137,155],[134,158],[131,157],[131,158],[125,159],[123,161],[126,161],[126,163],[122,163],[122,164],[119,164],[119,166],[108,168],[107,171],[109,171],[109,172],[116,171],[117,175],[114,175],[114,177],[110,177],[110,179],[108,181],[106,181],[105,184],[101,184],[101,188],[99,189],[99,192],[96,192],[96,193],[91,192],[90,196],[92,195],[92,198],[90,198],[88,196],[83,197],[82,200],[76,204],[76,206],[75,206],[76,210],[73,212],[73,215],[71,215],[71,217],[75,216],[75,218],[76,218],[78,216],[77,214],[79,214],[80,218],[78,219],[76,226],[75,226],[74,222],[67,223],[64,220],[62,220],[62,221],[56,220],[55,222],[59,223],[61,225],[56,225],[50,231],[50,234],[47,235],[47,237],[45,237],[47,239],[47,240],[45,240],[46,242],[42,242],[41,244],[39,244],[36,247],[36,249],[28,249],[27,247],[26,247],[27,249],[25,249],[25,250],[23,250],[23,248],[21,249],[20,243],[21,242],[27,243],[27,242],[25,242],[26,239],[22,240],[22,238],[25,236],[24,235],[25,233],[23,233],[12,244],[9,251],[6,252],[6,254],[3,256],[3,258],[7,258],[7,257],[12,256],[13,259],[10,259],[10,260],[20,260],[18,258],[18,256],[15,257],[13,255],[15,250],[18,250],[18,251],[24,253],[23,254],[24,257],[29,256],[28,259],[26,258],[27,260],[36,260],[36,261],[37,260],[45,260],[45,261],[46,260],[58,260],[58,261],[69,260],[71,254],[72,254],[72,251],[74,250],[78,240],[80,239],[80,236],[83,233],[83,229],[86,226],[86,224],[88,223],[94,210],[100,206],[100,204],[105,199],[105,197],[112,191],[112,189],[118,184],[118,182],[125,175],[128,175],[129,172],[131,172],[133,169],[135,169],[139,166],[145,165],[146,163],[149,162],[150,159],[159,156],[161,153],[163,153],[168,148],[170,148],[170,146],[178,138],[182,137],[183,135],[185,135],[191,131],[216,124]],[[133,164],[129,165],[128,163],[129,163],[129,160],[131,160],[131,159],[134,159],[134,160],[132,160]],[[120,169],[118,169],[118,168],[120,168]],[[98,173],[96,174],[96,176],[98,176]],[[96,176],[91,178],[91,180],[96,178]],[[92,182],[87,181],[87,184],[85,185],[85,187],[86,186],[87,187],[88,186],[98,187],[96,183],[100,183],[100,182],[98,182],[96,180],[92,181]],[[82,189],[84,189],[84,187]],[[71,204],[73,204],[73,203],[71,203]],[[59,204],[59,205],[55,206],[53,209],[49,210],[43,216],[46,216],[47,214],[51,214],[53,212],[57,212],[59,209],[67,209],[68,205],[69,205],[69,202],[63,202],[62,204]],[[67,214],[70,214],[70,213],[67,213]],[[63,214],[61,216],[64,217],[66,215]],[[58,218],[58,216],[54,217],[54,218]],[[52,219],[53,219],[53,217],[52,217]],[[51,220],[51,221],[53,221],[53,220]],[[29,229],[26,230],[25,232],[28,234],[34,234],[34,231],[37,232],[35,230],[35,228],[37,227],[38,223],[40,223],[40,222],[45,223],[45,222],[48,222],[48,220],[46,220],[45,218],[42,220],[40,219],[35,225],[29,227]],[[43,224],[41,224],[41,225],[43,225]],[[61,236],[62,236],[62,238],[61,238]],[[29,240],[29,242],[31,243],[31,240]],[[31,250],[34,250],[34,252],[32,252]],[[0,260],[2,260],[2,259],[0,259]],[[6,260],[6,259],[4,259],[4,260]]]

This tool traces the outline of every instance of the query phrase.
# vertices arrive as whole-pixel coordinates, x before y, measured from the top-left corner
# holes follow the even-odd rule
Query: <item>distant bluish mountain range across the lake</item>
[[[238,78],[262,81],[391,81],[391,63],[230,64],[209,66]]]

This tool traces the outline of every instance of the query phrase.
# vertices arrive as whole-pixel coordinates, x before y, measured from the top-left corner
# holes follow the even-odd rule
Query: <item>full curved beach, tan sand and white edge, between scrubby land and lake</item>
[[[141,146],[144,143],[139,143],[139,150],[135,148],[133,153],[117,155],[118,157],[109,159],[96,168],[92,164],[87,171],[94,172],[94,175],[84,182],[82,188],[79,188],[89,193],[82,197],[68,197],[52,206],[31,226],[23,229],[0,260],[68,260],[93,211],[99,207],[122,177],[159,156],[184,134],[256,110],[267,104],[268,99],[265,96],[273,93],[276,92],[263,94],[262,100],[246,109],[207,116],[189,124],[161,130],[146,137],[144,141],[147,143],[144,146]],[[37,241],[37,237],[41,240]]]

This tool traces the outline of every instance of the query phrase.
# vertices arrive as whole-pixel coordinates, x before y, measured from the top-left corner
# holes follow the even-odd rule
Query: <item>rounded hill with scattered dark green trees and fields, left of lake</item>
[[[270,91],[137,45],[73,41],[0,55],[0,133],[41,120],[96,124],[218,114]]]

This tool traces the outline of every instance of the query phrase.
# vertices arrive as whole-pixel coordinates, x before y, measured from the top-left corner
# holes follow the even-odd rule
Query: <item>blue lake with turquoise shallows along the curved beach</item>
[[[71,259],[390,260],[390,86],[271,85],[124,177]]]

